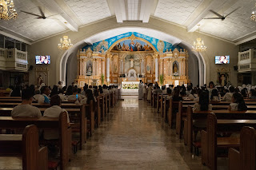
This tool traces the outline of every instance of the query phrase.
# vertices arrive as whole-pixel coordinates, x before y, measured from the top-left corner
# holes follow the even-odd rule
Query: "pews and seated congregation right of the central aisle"
[[[174,128],[188,152],[202,164],[218,168],[218,157],[230,170],[256,168],[255,86],[143,86],[144,99]],[[226,167],[226,168],[227,168]]]

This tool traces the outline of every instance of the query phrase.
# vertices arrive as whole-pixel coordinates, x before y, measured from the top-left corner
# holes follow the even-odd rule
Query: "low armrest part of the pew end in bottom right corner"
[[[241,170],[240,152],[234,148],[229,149],[229,170]]]

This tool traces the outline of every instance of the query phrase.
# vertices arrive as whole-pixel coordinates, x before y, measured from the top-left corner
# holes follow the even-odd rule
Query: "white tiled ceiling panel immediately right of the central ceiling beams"
[[[159,0],[154,16],[183,25],[203,0]]]

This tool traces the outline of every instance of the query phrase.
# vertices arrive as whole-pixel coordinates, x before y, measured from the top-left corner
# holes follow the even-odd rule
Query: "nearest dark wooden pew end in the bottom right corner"
[[[240,134],[239,151],[229,150],[230,170],[255,170],[256,169],[256,130],[243,127]]]

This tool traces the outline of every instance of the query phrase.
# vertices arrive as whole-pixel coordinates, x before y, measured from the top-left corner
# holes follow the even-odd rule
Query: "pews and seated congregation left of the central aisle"
[[[22,169],[65,169],[118,101],[114,85],[10,87],[0,97],[0,152]]]

